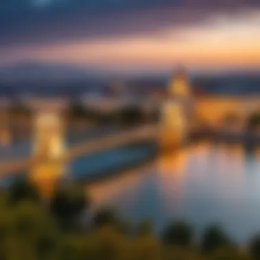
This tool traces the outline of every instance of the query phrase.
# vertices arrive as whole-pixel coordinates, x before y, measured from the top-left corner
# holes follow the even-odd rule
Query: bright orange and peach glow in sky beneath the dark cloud
[[[260,64],[260,12],[216,16],[200,25],[164,28],[151,36],[121,36],[66,42],[44,47],[21,47],[16,57],[71,62],[118,69],[187,66],[256,67]]]

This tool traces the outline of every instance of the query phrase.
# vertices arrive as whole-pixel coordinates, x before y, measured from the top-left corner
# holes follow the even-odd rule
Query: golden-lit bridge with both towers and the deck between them
[[[163,149],[176,147],[185,142],[187,130],[191,128],[192,99],[185,71],[178,70],[171,77],[168,99],[158,105],[159,124],[131,127],[107,136],[79,140],[77,144],[64,145],[64,117],[66,102],[40,100],[30,107],[36,112],[34,117],[34,147],[31,156],[0,162],[0,176],[19,172],[29,172],[33,179],[59,176],[68,162],[82,155],[109,150],[119,146],[145,140],[157,140]]]

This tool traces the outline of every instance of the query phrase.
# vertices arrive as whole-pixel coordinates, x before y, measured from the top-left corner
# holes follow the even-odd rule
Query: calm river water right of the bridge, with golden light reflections
[[[197,233],[217,222],[244,242],[260,231],[259,151],[201,142],[87,190],[94,208],[111,205],[126,218],[148,217],[157,230],[172,218],[191,222]]]

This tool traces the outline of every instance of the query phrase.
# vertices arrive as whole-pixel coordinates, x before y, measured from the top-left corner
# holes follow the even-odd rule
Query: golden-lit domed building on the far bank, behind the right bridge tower
[[[233,77],[232,80],[235,79]],[[215,81],[213,79],[213,83]],[[250,94],[250,91],[240,95],[207,92],[195,96],[190,82],[187,70],[179,66],[170,77],[167,88],[167,100],[177,102],[182,107],[188,129],[196,126],[224,129],[226,118],[232,117],[237,118],[233,126],[237,131],[243,131],[250,114],[260,111],[259,94]],[[243,83],[246,86],[248,81],[244,80]],[[224,85],[225,81],[220,81],[220,87]]]

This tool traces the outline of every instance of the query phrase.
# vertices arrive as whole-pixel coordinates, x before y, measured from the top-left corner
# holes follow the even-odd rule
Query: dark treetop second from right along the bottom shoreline
[[[229,246],[230,244],[230,239],[226,236],[222,229],[216,225],[207,227],[201,239],[201,248],[203,252],[213,252],[218,248]]]

